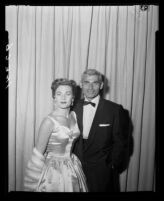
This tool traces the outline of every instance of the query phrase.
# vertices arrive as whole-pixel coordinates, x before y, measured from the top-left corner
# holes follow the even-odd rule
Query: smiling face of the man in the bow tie
[[[82,81],[82,90],[84,96],[88,100],[95,98],[102,88],[103,83],[100,83],[99,77],[97,75],[84,75]]]

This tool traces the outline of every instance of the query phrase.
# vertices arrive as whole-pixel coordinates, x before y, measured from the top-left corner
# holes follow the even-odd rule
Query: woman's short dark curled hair
[[[55,96],[56,89],[61,85],[70,86],[72,88],[73,96],[75,96],[76,82],[74,80],[68,80],[66,78],[60,78],[60,79],[55,79],[51,84],[51,90],[52,90],[52,97],[53,98]]]

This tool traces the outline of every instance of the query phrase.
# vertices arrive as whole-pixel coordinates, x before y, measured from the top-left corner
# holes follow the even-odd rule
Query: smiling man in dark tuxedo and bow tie
[[[102,75],[94,69],[82,74],[81,88],[84,99],[73,108],[81,135],[73,152],[81,160],[90,192],[118,192],[117,170],[127,134],[124,109],[100,97]]]

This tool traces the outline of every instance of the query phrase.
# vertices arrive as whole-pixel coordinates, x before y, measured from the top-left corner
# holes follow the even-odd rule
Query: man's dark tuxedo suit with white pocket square
[[[89,191],[114,191],[113,173],[121,163],[126,141],[124,109],[100,98],[88,139],[84,143],[83,102],[80,100],[73,108],[81,132],[74,142],[73,152],[81,160]]]

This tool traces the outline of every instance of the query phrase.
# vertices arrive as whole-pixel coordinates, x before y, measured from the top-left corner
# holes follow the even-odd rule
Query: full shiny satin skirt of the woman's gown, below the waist
[[[87,192],[85,175],[76,155],[53,156],[51,153],[43,167],[36,191]]]

